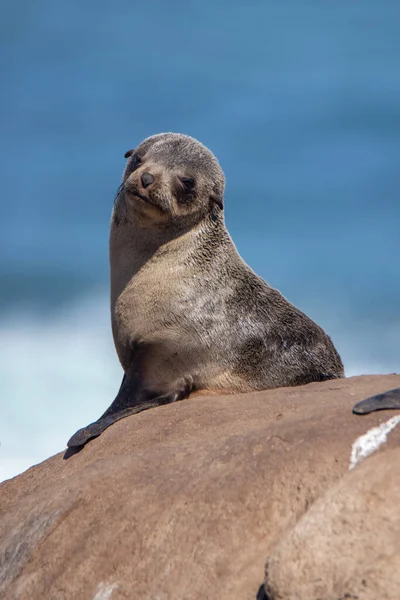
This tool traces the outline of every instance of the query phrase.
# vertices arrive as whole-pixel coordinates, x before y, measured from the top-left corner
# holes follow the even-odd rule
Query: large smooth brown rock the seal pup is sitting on
[[[353,404],[398,386],[399,375],[363,376],[193,397],[32,467],[0,486],[0,597],[255,600],[268,556],[314,501],[333,493],[320,500],[332,506],[340,494],[329,488],[339,482],[350,493],[353,479],[367,493],[372,465],[395,456],[400,427],[348,474],[354,441],[396,414],[360,417]],[[285,600],[300,598],[290,593]]]

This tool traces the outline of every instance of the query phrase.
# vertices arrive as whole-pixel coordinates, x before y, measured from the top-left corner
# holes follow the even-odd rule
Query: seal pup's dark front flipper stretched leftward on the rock
[[[134,386],[131,380],[124,375],[120,390],[111,406],[97,421],[79,429],[79,431],[68,440],[68,448],[84,446],[89,440],[98,437],[105,429],[107,429],[107,427],[110,427],[110,425],[120,419],[124,419],[125,417],[129,417],[130,415],[134,415],[149,408],[156,408],[163,404],[170,404],[177,400],[183,400],[184,398],[187,398],[191,389],[189,386],[184,386],[182,389],[169,392],[168,394],[153,397],[147,396],[146,399],[138,401],[138,394],[137,392],[135,393],[135,388],[137,390],[137,386]]]

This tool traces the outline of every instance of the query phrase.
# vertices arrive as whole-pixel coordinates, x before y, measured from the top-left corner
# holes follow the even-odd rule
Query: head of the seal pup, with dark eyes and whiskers
[[[193,224],[222,210],[225,179],[214,155],[195,139],[154,135],[126,155],[120,194],[129,220],[143,225]]]

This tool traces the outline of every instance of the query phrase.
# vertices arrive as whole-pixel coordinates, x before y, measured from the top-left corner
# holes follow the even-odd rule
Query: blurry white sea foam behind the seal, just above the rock
[[[398,370],[398,329],[381,332],[382,359],[368,356],[368,344],[354,330],[343,328],[333,337],[347,376]],[[27,311],[3,316],[0,355],[2,481],[63,450],[69,437],[114,399],[122,370],[110,331],[108,294],[81,299],[48,318]]]

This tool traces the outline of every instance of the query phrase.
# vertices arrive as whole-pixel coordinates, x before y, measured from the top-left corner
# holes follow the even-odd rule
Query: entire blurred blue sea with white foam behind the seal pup
[[[1,6],[0,480],[118,390],[109,220],[154,133],[216,154],[240,253],[347,375],[399,370],[398,0]]]

